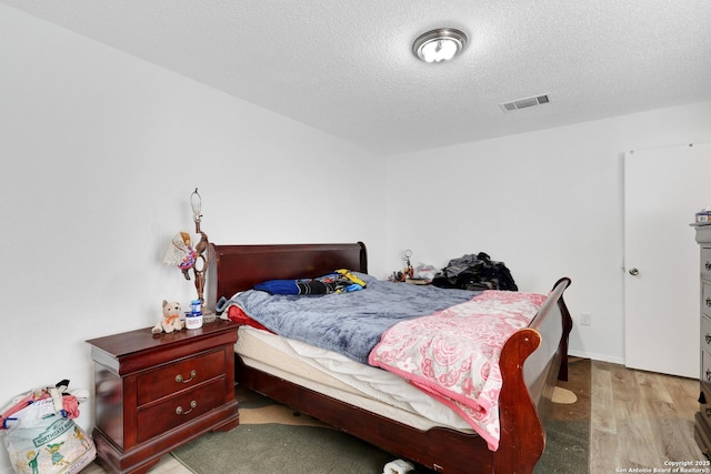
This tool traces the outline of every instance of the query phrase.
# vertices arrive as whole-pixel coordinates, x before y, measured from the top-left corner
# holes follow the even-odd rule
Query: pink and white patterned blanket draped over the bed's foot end
[[[393,372],[459,413],[499,448],[499,356],[547,296],[484,291],[432,315],[395,324],[370,353],[369,363]]]

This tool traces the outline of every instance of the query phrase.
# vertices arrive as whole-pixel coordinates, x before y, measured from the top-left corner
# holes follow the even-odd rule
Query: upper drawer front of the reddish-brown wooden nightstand
[[[214,351],[138,376],[138,405],[224,374],[224,352]]]

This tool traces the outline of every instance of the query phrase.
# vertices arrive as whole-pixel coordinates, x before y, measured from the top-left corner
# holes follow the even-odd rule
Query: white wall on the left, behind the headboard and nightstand
[[[362,240],[384,274],[383,173],[363,150],[2,6],[0,64],[0,405],[63,377],[91,389],[87,339],[188,305],[161,260],[193,230],[196,186],[213,242]]]

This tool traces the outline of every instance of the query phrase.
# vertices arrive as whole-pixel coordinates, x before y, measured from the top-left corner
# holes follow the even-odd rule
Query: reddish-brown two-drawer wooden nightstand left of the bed
[[[107,470],[143,473],[176,447],[239,424],[237,327],[217,320],[171,334],[147,327],[87,341],[94,365],[93,440]]]

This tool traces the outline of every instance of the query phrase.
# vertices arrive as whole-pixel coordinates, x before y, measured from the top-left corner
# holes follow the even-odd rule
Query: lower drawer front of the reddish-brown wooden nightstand
[[[166,433],[224,403],[224,379],[170,397],[138,412],[138,442]]]

